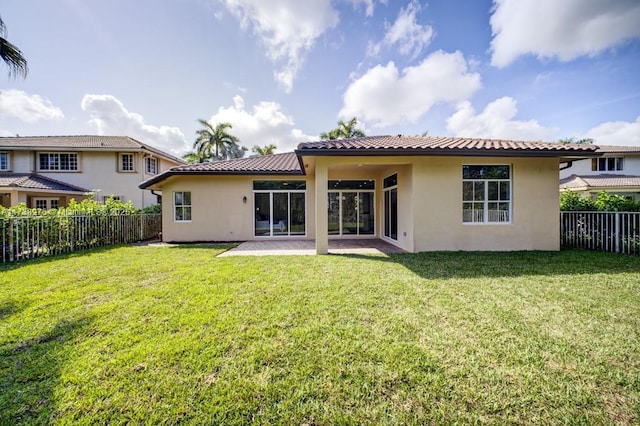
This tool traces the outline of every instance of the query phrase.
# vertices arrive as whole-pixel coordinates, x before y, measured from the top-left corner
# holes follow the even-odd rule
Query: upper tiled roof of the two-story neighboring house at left
[[[150,152],[179,164],[185,161],[128,136],[16,136],[0,137],[0,149]]]

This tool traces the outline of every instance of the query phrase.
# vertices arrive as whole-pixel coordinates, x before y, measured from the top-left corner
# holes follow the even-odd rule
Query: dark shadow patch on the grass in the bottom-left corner
[[[0,424],[48,424],[54,420],[53,392],[69,346],[91,320],[60,321],[41,336],[0,349]]]

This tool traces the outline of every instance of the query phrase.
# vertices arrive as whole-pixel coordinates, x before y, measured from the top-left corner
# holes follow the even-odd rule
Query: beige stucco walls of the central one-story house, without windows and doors
[[[303,157],[304,176],[174,175],[156,188],[164,194],[163,240],[245,241],[289,237],[254,236],[254,180],[305,180],[305,238],[326,253],[327,180],[375,180],[375,235],[382,237],[383,179],[398,175],[398,238],[409,252],[452,250],[558,250],[558,158],[363,156]],[[508,223],[462,221],[462,166],[512,166],[512,211]],[[191,192],[192,220],[174,220],[173,193]],[[246,197],[246,202],[243,201]],[[317,232],[316,232],[317,231]],[[353,237],[350,237],[353,238]]]

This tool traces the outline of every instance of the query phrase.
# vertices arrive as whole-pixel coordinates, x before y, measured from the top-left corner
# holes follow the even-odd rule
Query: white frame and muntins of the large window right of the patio
[[[462,179],[462,186],[463,186],[463,190],[462,190],[462,223],[464,225],[510,225],[512,218],[513,218],[513,165],[511,164],[464,164],[463,167],[463,173],[464,173],[464,167],[465,166],[482,166],[482,167],[491,167],[491,166],[506,166],[509,167],[509,178],[508,179],[497,179],[497,178],[487,178],[487,179],[465,179],[464,175],[463,175],[463,179]],[[465,200],[464,199],[464,184],[465,182],[482,182],[484,184],[484,194],[483,194],[483,200]],[[509,183],[509,199],[508,200],[490,200],[489,199],[489,183],[490,182],[508,182]],[[498,187],[499,188],[499,187]],[[475,193],[475,189],[473,191]],[[500,193],[500,190],[498,189],[498,194]],[[480,217],[478,215],[476,215],[476,210],[472,209],[471,211],[471,220],[467,221],[465,220],[464,214],[465,214],[465,209],[464,209],[464,205],[466,203],[483,203],[483,210],[482,210],[482,220],[479,220]],[[504,210],[493,210],[498,212],[496,215],[491,215],[491,211],[489,210],[489,204],[494,204],[494,203],[498,203],[498,204],[508,204],[508,209],[507,209],[507,218],[506,220],[502,220],[502,215],[500,214],[500,212],[503,212]],[[466,210],[467,212],[469,210]],[[497,220],[495,220],[497,219]]]

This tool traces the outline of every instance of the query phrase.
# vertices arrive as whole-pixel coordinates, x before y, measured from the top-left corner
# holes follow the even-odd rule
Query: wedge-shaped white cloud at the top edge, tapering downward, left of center
[[[302,67],[315,40],[338,24],[331,0],[222,0],[240,21],[251,27],[274,63],[283,63],[274,78],[286,92]]]

